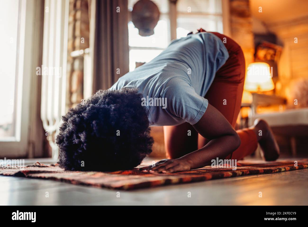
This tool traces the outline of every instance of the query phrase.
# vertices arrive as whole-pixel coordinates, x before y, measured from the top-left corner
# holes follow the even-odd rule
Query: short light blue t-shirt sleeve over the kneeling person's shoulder
[[[195,92],[182,77],[173,77],[165,85],[162,98],[166,98],[166,109],[174,116],[196,124],[205,113],[209,102]]]

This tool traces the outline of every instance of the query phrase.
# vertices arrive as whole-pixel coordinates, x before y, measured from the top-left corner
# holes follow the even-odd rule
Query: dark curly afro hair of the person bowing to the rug
[[[152,152],[148,109],[136,88],[99,90],[62,116],[59,166],[72,171],[132,169]]]

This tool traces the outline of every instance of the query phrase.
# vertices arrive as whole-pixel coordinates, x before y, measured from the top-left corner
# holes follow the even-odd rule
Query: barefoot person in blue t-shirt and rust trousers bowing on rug
[[[171,173],[217,158],[239,160],[258,143],[265,160],[276,160],[279,148],[266,122],[234,130],[244,79],[243,52],[231,38],[201,29],[176,39],[63,116],[56,140],[59,165],[83,171],[136,167],[152,151],[151,125],[164,126],[168,159],[144,171]],[[144,105],[149,97],[166,102]]]

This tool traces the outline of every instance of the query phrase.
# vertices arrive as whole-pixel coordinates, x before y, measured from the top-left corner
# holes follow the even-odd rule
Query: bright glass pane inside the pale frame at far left
[[[20,20],[22,5],[18,0],[0,0],[2,55],[0,56],[0,141],[20,140],[20,85],[23,41]],[[5,22],[5,23],[4,23]],[[20,42],[19,42],[20,41]]]

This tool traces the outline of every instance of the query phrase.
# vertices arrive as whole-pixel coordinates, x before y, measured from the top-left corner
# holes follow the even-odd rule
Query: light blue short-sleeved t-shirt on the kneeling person
[[[138,88],[152,126],[194,125],[208,106],[204,96],[217,70],[228,58],[225,45],[216,35],[188,35],[173,40],[159,56],[120,77],[110,89]]]

